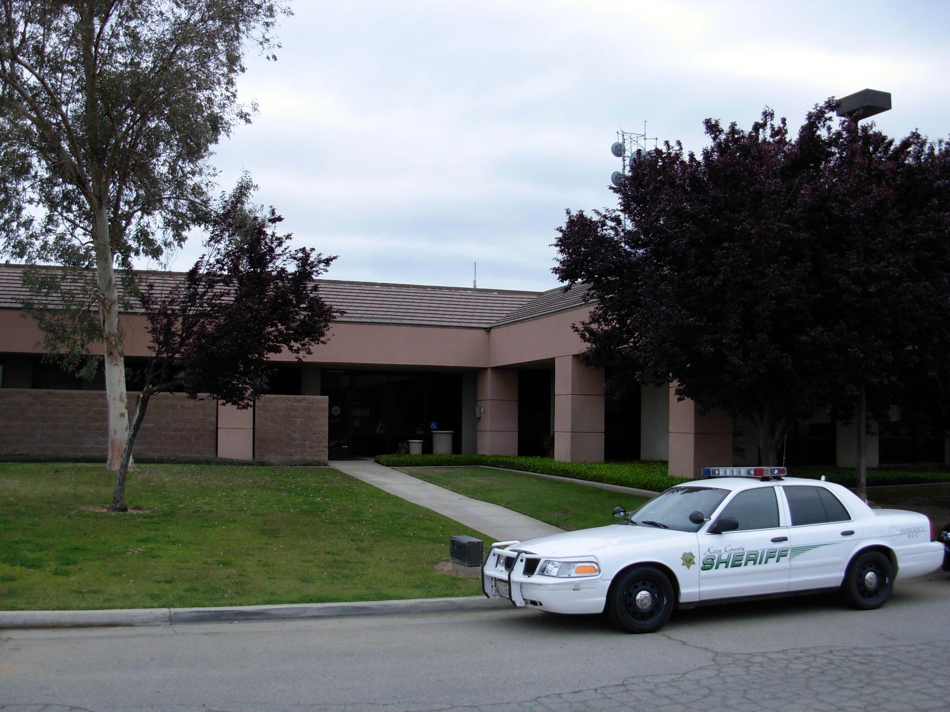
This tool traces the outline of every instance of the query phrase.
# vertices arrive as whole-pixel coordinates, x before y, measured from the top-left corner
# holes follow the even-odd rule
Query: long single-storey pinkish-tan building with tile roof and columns
[[[104,432],[104,398],[96,393],[103,386],[41,363],[41,333],[20,309],[20,272],[0,266],[0,452],[91,453]],[[409,440],[422,440],[431,452],[433,431],[451,431],[441,439],[449,438],[456,453],[669,459],[671,474],[680,477],[757,457],[748,445],[742,450],[750,436],[742,423],[723,412],[701,415],[670,388],[644,386],[622,398],[605,393],[604,372],[580,362],[583,344],[572,328],[590,309],[581,287],[536,292],[322,280],[320,290],[345,313],[333,322],[329,343],[303,363],[289,354],[275,360],[272,395],[250,411],[163,396],[137,451],[333,459],[394,452]],[[144,319],[125,314],[123,328],[127,387],[134,391],[139,359],[148,355]],[[76,423],[76,408],[95,411],[85,430],[77,430],[83,423]],[[825,460],[804,463],[853,463],[845,426],[818,417],[816,427],[803,427],[807,434],[797,434],[793,445],[805,458]],[[871,462],[879,444],[870,442]],[[939,445],[944,459],[942,438]]]

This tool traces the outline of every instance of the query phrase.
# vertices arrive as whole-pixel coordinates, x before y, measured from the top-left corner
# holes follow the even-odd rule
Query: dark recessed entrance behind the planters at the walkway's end
[[[454,430],[461,451],[462,374],[324,370],[321,395],[330,407],[330,459],[394,453],[407,440],[432,452],[431,423]]]

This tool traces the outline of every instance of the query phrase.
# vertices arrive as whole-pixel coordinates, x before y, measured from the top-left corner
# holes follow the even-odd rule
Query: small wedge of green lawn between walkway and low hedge
[[[487,467],[401,467],[414,478],[466,497],[499,504],[561,529],[613,524],[614,507],[636,509],[645,497],[632,497],[574,482],[538,478]]]

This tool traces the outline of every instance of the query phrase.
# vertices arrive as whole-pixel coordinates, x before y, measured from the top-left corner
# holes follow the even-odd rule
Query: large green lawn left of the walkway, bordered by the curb
[[[139,465],[114,515],[100,465],[0,463],[0,609],[477,595],[434,571],[487,538],[325,467]]]

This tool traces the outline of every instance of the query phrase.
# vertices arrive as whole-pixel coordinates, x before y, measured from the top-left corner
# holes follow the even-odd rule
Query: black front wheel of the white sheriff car
[[[673,584],[663,571],[638,566],[621,573],[607,597],[607,616],[630,633],[652,633],[673,613]]]

